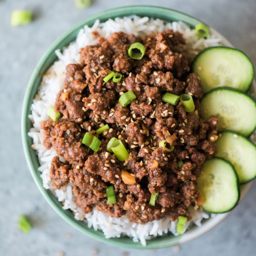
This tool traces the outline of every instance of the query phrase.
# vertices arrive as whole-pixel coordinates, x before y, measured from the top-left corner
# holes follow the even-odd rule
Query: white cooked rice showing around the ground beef
[[[79,51],[81,47],[94,45],[97,43],[94,36],[91,34],[94,30],[98,31],[101,36],[108,38],[113,32],[123,31],[135,35],[149,34],[150,32],[161,32],[166,29],[173,29],[183,34],[187,42],[187,49],[191,56],[196,55],[199,51],[206,47],[222,45],[222,41],[215,34],[210,35],[207,39],[198,38],[195,35],[195,30],[191,29],[187,24],[179,22],[164,22],[159,19],[150,19],[148,17],[123,17],[115,18],[100,23],[96,20],[93,27],[85,26],[82,28],[74,42],[70,43],[63,52],[56,50],[55,54],[59,60],[55,61],[47,73],[43,76],[37,97],[34,99],[31,106],[32,114],[29,116],[33,122],[34,128],[30,129],[29,136],[33,138],[33,148],[38,153],[40,162],[39,171],[42,173],[41,178],[43,186],[46,189],[52,189],[49,170],[51,161],[56,155],[53,148],[46,149],[42,145],[43,131],[40,130],[42,121],[48,119],[46,114],[47,108],[54,105],[56,95],[62,89],[65,79],[65,67],[70,63],[79,62]],[[61,157],[61,161],[65,161]],[[63,209],[71,209],[74,212],[74,218],[84,221],[88,227],[93,227],[94,230],[102,230],[106,238],[129,236],[134,242],[140,241],[146,245],[146,240],[156,236],[162,236],[171,232],[176,234],[176,222],[170,221],[168,217],[159,221],[148,222],[145,225],[129,222],[126,216],[121,218],[111,218],[108,214],[94,209],[91,213],[84,215],[79,207],[75,204],[74,195],[72,193],[72,184],[67,184],[59,190],[53,191],[58,200],[63,203]],[[202,219],[207,219],[209,216],[202,211],[191,209],[192,220],[186,223],[185,229],[192,225],[201,226]]]

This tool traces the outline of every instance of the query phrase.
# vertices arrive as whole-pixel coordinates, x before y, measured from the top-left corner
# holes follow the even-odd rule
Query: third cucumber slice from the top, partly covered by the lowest
[[[232,163],[240,184],[256,177],[256,146],[246,137],[232,131],[223,131],[216,141],[216,146],[216,156]]]

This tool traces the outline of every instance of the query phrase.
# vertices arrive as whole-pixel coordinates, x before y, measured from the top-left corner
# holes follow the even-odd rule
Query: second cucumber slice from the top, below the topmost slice
[[[251,135],[256,128],[256,102],[247,94],[231,88],[216,88],[201,100],[201,116],[219,118],[219,131],[224,129]]]

